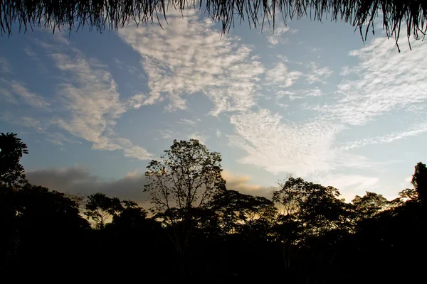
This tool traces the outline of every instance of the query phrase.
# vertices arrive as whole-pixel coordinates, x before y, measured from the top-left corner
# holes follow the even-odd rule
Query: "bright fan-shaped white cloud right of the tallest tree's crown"
[[[271,173],[305,176],[328,172],[337,165],[333,148],[340,126],[320,120],[304,124],[282,121],[268,109],[231,116],[236,136],[231,144],[247,152],[240,163],[255,165]]]

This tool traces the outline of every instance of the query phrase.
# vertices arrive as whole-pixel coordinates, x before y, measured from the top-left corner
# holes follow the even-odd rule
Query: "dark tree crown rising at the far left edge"
[[[23,154],[28,154],[27,146],[15,133],[1,133],[0,184],[12,186],[26,180],[23,166],[19,163]]]

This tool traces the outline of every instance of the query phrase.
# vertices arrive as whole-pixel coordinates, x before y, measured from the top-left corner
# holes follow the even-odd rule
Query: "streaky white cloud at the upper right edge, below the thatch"
[[[390,111],[414,111],[427,101],[427,45],[416,41],[413,50],[402,46],[398,53],[393,40],[375,38],[369,45],[349,55],[359,64],[345,74],[337,87],[337,103],[320,111],[345,124],[362,125]]]

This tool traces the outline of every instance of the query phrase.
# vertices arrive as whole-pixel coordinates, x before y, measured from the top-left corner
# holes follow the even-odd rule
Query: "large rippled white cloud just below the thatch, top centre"
[[[222,35],[211,21],[199,22],[196,11],[171,15],[160,28],[128,26],[120,37],[141,55],[151,89],[144,104],[169,100],[167,109],[186,109],[185,95],[203,93],[214,109],[245,111],[255,105],[256,85],[264,68],[239,38]]]

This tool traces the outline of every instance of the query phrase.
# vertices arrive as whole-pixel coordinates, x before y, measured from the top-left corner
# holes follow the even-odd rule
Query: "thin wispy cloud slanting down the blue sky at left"
[[[115,80],[104,65],[85,58],[63,36],[56,40],[60,44],[51,50],[51,58],[62,75],[57,95],[64,111],[51,122],[93,143],[93,149],[122,150],[125,156],[139,160],[152,158],[144,148],[117,137],[113,129],[116,119],[127,107],[135,107],[132,102],[137,99],[133,97],[133,101],[122,102]]]

